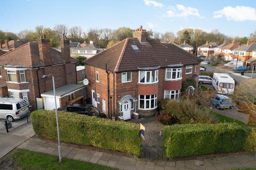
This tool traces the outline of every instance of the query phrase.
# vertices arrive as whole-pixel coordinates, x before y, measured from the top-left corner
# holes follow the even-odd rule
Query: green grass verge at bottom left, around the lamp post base
[[[115,169],[111,167],[66,158],[63,158],[62,162],[59,163],[59,158],[56,156],[28,151],[24,149],[18,149],[14,151],[11,157],[12,162],[17,166],[17,169]]]

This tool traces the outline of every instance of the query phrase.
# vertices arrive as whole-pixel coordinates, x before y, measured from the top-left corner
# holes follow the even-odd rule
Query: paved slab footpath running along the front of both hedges
[[[256,167],[254,155],[226,155],[213,158],[195,158],[188,160],[153,161],[133,157],[120,156],[113,153],[90,150],[76,145],[61,143],[62,157],[91,162],[94,164],[129,170],[157,169],[231,169]],[[22,143],[18,148],[43,152],[58,156],[58,143],[34,136]]]

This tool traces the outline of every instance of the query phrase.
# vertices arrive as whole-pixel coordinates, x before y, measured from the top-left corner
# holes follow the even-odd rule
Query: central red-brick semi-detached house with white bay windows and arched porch
[[[177,45],[148,38],[141,26],[133,38],[84,61],[86,97],[108,117],[153,116],[158,101],[179,99],[182,81],[198,81],[200,62]]]

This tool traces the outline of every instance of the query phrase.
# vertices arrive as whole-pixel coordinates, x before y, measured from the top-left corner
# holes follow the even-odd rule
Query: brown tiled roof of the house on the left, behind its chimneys
[[[61,53],[58,50],[50,48],[51,51],[51,62],[52,65],[64,64]],[[76,62],[74,58],[71,57],[70,62]],[[22,65],[23,67],[34,68],[45,66],[39,56],[38,43],[26,43],[9,53],[0,56],[0,65]]]

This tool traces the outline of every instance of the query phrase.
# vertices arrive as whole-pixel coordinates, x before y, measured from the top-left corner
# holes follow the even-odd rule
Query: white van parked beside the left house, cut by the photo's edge
[[[0,118],[13,122],[26,116],[29,111],[29,102],[17,98],[0,98]]]

